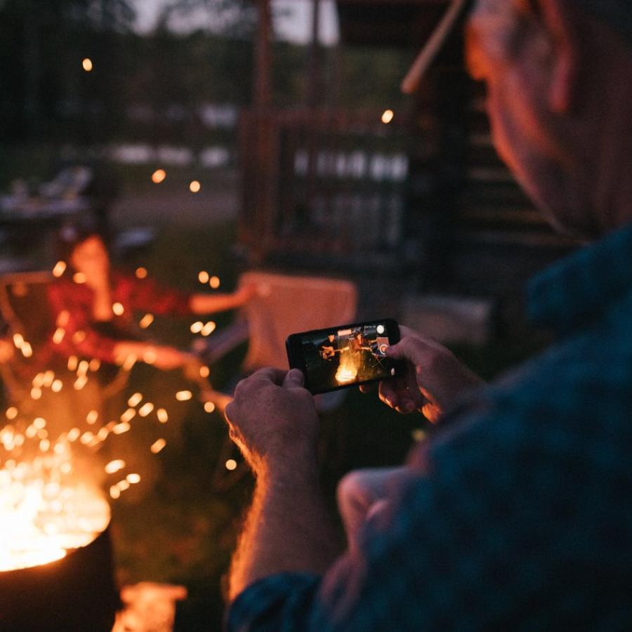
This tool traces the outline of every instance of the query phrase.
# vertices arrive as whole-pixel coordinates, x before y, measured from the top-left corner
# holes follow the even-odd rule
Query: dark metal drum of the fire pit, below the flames
[[[120,605],[109,526],[61,560],[0,572],[2,632],[110,632]]]

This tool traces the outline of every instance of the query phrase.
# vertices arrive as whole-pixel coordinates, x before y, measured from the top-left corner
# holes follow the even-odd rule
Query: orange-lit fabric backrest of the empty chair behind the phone
[[[244,371],[287,368],[289,334],[355,320],[357,289],[349,281],[245,272],[239,285],[246,284],[255,284],[258,292],[244,308],[249,329]]]

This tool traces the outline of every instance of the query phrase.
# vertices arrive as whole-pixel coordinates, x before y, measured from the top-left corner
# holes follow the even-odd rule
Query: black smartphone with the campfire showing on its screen
[[[386,356],[400,341],[392,318],[303,331],[285,341],[291,369],[301,369],[310,393],[381,381],[402,374],[404,363]]]

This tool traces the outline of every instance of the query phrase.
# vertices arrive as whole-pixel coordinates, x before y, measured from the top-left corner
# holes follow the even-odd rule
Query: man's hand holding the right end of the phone
[[[433,423],[461,393],[482,380],[432,338],[400,325],[402,340],[386,350],[394,360],[406,361],[400,378],[383,381],[380,399],[404,414],[421,411]]]

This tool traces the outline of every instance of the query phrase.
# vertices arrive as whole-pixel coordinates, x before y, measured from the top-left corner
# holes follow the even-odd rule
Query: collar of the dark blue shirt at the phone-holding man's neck
[[[632,224],[533,277],[527,309],[535,324],[558,334],[591,322],[632,291]]]

